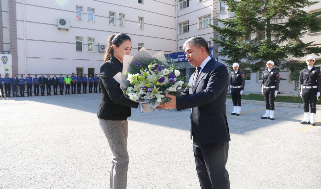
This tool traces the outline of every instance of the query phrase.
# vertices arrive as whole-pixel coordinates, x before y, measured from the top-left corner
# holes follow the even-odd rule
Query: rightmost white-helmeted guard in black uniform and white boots
[[[303,100],[304,118],[301,124],[316,125],[316,104],[321,92],[321,72],[313,64],[316,59],[309,56],[306,59],[307,67],[299,75],[299,91]],[[309,116],[309,102],[311,112]]]

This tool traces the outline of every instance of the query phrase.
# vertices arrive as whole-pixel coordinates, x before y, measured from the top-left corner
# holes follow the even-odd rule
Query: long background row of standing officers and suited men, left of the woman
[[[83,92],[87,93],[87,84],[89,85],[89,93],[92,93],[92,87],[94,87],[94,92],[97,92],[97,87],[99,85],[99,79],[97,74],[95,74],[94,77],[90,74],[89,78],[86,77],[86,74],[83,76],[80,76],[78,74],[77,76],[72,74],[71,77],[69,77],[69,74],[66,74],[66,77],[63,77],[62,74],[60,74],[60,77],[57,78],[56,74],[54,74],[53,78],[50,78],[50,75],[47,75],[47,78],[41,74],[41,76],[38,78],[37,74],[35,74],[35,77],[30,77],[30,73],[28,74],[28,77],[25,79],[23,78],[23,75],[21,75],[21,78],[16,78],[16,74],[13,75],[13,78],[9,78],[9,74],[6,74],[5,78],[1,77],[0,74],[0,90],[2,93],[2,97],[4,97],[4,91],[3,91],[3,85],[5,90],[5,97],[11,97],[11,88],[13,90],[13,97],[19,97],[18,96],[18,88],[20,88],[20,96],[24,97],[24,90],[25,87],[27,88],[27,95],[32,96],[31,89],[34,88],[34,95],[39,96],[39,86],[41,91],[41,96],[45,95],[45,87],[47,87],[47,95],[51,95],[51,86],[53,86],[54,89],[54,95],[57,95],[57,88],[59,86],[60,94],[63,94],[64,87],[66,87],[65,94],[69,94],[70,86],[72,87],[72,94],[76,94],[76,85],[77,85],[77,93],[80,94],[81,86],[83,86]],[[99,92],[101,92],[99,88]]]

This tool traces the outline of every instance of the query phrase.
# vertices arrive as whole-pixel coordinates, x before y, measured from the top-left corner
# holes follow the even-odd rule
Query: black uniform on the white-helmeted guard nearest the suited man
[[[231,85],[231,95],[233,100],[233,106],[241,106],[241,95],[240,91],[244,90],[245,76],[243,72],[233,71],[230,74],[230,85]]]

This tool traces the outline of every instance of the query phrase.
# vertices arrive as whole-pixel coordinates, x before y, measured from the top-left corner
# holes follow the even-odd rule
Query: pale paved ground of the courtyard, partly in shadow
[[[101,93],[0,98],[0,188],[108,188],[111,152],[96,117]],[[228,116],[232,189],[321,188],[321,111],[244,104]],[[228,115],[232,104],[227,103]],[[129,118],[129,189],[197,189],[189,110]]]

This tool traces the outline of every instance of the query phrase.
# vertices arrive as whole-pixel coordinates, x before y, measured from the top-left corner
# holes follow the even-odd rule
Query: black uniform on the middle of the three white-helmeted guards
[[[272,68],[270,72],[266,69],[262,73],[263,95],[265,99],[265,109],[267,110],[274,110],[274,92],[276,90],[279,91],[280,79],[280,73],[274,68]]]

